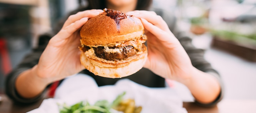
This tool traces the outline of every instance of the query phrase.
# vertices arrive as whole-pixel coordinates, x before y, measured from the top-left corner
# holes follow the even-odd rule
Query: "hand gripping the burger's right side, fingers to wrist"
[[[184,81],[194,69],[191,60],[162,17],[151,11],[127,14],[140,18],[148,37],[148,59],[144,67],[168,79]]]

